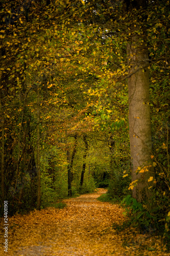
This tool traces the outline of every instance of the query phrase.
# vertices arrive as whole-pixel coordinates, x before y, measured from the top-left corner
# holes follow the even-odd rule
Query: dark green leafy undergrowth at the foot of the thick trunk
[[[158,191],[156,191],[155,196],[153,194],[152,206],[150,207],[149,202],[141,204],[131,195],[128,195],[122,200],[122,205],[125,207],[124,214],[129,217],[129,221],[124,224],[124,227],[132,225],[140,228],[142,232],[157,232],[163,237],[169,248],[170,212],[168,214],[167,204],[169,205],[168,197],[162,197]]]

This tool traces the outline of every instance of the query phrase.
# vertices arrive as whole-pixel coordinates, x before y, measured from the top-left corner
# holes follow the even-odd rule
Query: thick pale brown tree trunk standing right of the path
[[[146,6],[146,1],[124,1],[127,11]],[[127,5],[127,3],[130,3]],[[137,17],[136,17],[137,18]],[[137,30],[138,28],[135,28]],[[152,168],[152,137],[149,96],[148,47],[144,32],[134,33],[130,27],[131,41],[127,45],[129,67],[129,136],[132,163],[132,196],[137,201],[150,197],[148,179],[153,176]],[[140,168],[138,168],[140,167]]]

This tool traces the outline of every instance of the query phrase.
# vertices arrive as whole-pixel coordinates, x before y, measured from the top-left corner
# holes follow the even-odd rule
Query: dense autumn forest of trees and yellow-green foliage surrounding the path
[[[169,1],[0,5],[1,215],[108,187],[169,239]]]

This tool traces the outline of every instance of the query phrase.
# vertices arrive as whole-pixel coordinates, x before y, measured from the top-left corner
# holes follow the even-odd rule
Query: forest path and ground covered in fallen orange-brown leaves
[[[125,217],[119,205],[96,200],[106,191],[98,188],[96,193],[66,199],[63,209],[51,207],[11,217],[8,253],[3,252],[1,240],[0,255],[170,255],[151,234],[113,229],[113,223],[121,224]]]

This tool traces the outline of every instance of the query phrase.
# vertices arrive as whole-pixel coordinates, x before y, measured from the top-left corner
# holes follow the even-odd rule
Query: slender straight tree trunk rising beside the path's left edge
[[[37,84],[37,210],[41,207],[41,169],[40,169],[40,93]]]

